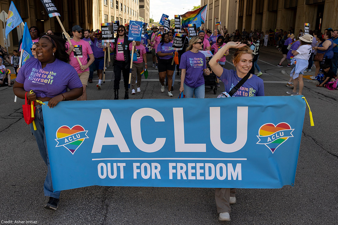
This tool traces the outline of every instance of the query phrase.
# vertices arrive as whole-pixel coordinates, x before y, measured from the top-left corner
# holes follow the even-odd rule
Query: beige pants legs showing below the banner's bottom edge
[[[236,188],[216,188],[215,201],[217,206],[217,213],[228,212],[230,214],[230,196],[235,197]]]

